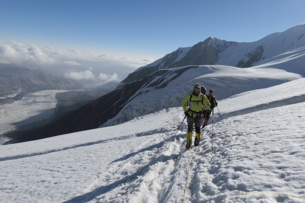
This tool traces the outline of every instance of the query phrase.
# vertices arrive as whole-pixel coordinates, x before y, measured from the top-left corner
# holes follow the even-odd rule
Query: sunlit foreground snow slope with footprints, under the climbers
[[[181,107],[2,145],[0,202],[304,202],[305,79],[218,107],[190,151]]]

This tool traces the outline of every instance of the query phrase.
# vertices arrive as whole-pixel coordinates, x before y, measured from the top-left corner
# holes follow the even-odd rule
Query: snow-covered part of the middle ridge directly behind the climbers
[[[293,61],[290,61],[290,65]],[[282,64],[285,66],[285,63]],[[172,68],[164,75],[155,77],[146,83],[135,95],[137,97],[125,103],[122,110],[101,127],[121,124],[139,116],[143,116],[168,107],[179,107],[181,101],[195,84],[213,89],[217,100],[222,100],[248,90],[261,89],[302,78],[296,73],[268,66],[252,68],[236,68],[222,65],[203,65],[197,68]],[[187,69],[174,80],[175,72]],[[156,81],[163,84],[154,85]],[[170,82],[168,82],[170,81]],[[162,88],[160,88],[162,86]]]

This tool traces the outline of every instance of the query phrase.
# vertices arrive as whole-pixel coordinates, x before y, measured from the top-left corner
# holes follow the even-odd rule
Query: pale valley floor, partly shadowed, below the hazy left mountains
[[[104,95],[91,90],[43,90],[0,98],[0,145],[43,137],[44,126]]]

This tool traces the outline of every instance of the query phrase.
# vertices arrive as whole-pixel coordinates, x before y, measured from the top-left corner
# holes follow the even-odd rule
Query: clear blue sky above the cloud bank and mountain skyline
[[[253,42],[305,23],[305,1],[1,1],[0,40],[156,60],[207,37]]]

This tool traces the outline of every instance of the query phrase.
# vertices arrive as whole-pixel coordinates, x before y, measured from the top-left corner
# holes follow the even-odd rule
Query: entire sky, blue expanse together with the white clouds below
[[[253,42],[305,23],[304,0],[0,0],[0,64],[95,86],[208,37]]]

